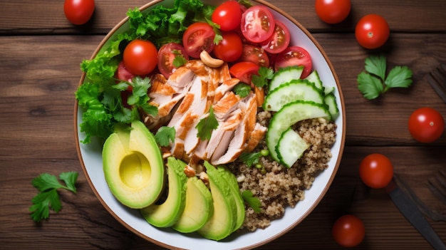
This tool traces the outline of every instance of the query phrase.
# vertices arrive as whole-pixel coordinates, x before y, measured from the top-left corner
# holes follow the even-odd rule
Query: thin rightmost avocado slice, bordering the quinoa
[[[244,200],[242,194],[240,193],[239,182],[237,182],[237,178],[231,172],[231,170],[229,170],[228,167],[220,165],[217,167],[217,170],[219,174],[223,177],[223,179],[225,179],[228,182],[229,187],[231,188],[232,195],[234,196],[234,202],[237,208],[237,220],[233,231],[236,231],[237,229],[240,228],[240,226],[242,226],[245,217]]]

